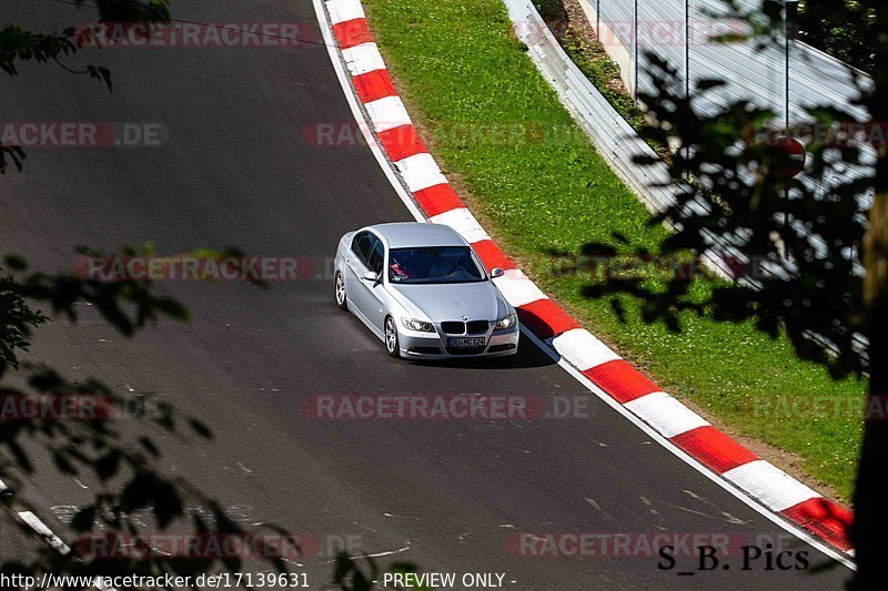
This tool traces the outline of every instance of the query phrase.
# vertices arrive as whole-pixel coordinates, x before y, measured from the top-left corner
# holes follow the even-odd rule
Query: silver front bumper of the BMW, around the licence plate
[[[434,333],[421,333],[410,330],[403,325],[398,326],[398,344],[401,345],[401,356],[415,359],[464,359],[476,357],[506,357],[518,353],[518,338],[521,337],[521,325],[507,328],[506,330],[494,330],[491,326],[486,333],[477,335],[447,335],[441,329],[440,324],[435,324]],[[484,347],[474,349],[448,348],[447,339],[452,337],[484,337]]]

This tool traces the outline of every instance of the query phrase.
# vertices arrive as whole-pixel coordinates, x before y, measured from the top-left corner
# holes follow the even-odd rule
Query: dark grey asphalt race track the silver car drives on
[[[93,20],[53,0],[4,0],[4,21],[61,30]],[[114,92],[54,64],[0,77],[4,121],[159,123],[161,146],[32,147],[22,174],[0,177],[0,253],[44,269],[75,264],[73,246],[115,251],[153,242],[161,254],[236,246],[265,256],[332,257],[339,237],[365,224],[410,220],[370,151],[305,141],[319,122],[349,123],[309,0],[174,0],[199,22],[297,22],[312,43],[291,48],[118,48],[71,59],[108,65]],[[41,328],[30,358],[70,379],[157,393],[200,417],[212,441],[151,431],[162,466],[211,492],[244,524],[311,532],[300,561],[312,589],[332,573],[330,547],[426,571],[505,573],[504,587],[547,589],[840,589],[833,562],[660,447],[592,397],[586,417],[539,420],[324,421],[314,395],[385,393],[585,396],[533,344],[506,361],[413,365],[339,310],[317,275],[268,291],[171,282],[192,322],[164,322],[135,339],[89,309],[77,326]],[[124,428],[141,428],[125,425]],[[65,516],[98,485],[63,477],[47,457],[19,495],[60,536]],[[194,508],[199,511],[200,508]],[[11,528],[3,521],[2,538]],[[728,534],[807,551],[807,570],[764,562],[679,575],[654,556],[535,558],[509,548],[517,532]],[[18,547],[17,547],[18,548]],[[10,558],[0,540],[0,561]],[[684,568],[686,567],[686,568]],[[296,568],[296,567],[294,567]],[[513,582],[514,581],[514,582]],[[462,589],[462,587],[457,587]]]

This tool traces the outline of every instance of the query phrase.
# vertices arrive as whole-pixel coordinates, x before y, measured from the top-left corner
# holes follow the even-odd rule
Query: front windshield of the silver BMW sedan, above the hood
[[[394,248],[389,281],[396,284],[476,283],[487,274],[467,246]]]

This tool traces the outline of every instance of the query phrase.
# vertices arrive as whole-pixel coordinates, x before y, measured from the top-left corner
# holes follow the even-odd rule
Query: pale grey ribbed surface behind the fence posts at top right
[[[798,41],[778,39],[760,48],[757,41],[716,43],[712,37],[745,27],[727,18],[719,0],[579,0],[596,26],[605,50],[619,65],[633,95],[654,93],[649,54],[666,60],[693,90],[702,79],[728,84],[698,104],[715,112],[728,102],[745,100],[770,109],[776,123],[807,121],[804,110],[817,103],[847,109],[862,120],[866,113],[851,103],[871,80],[847,64]],[[740,0],[746,9],[759,0]],[[787,85],[788,80],[788,85]],[[787,110],[787,101],[789,109]]]

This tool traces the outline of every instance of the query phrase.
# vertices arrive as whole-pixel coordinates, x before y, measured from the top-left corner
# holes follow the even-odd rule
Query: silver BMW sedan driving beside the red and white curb
[[[349,232],[333,263],[336,304],[392,357],[495,357],[518,350],[518,318],[453,228],[405,222]]]

